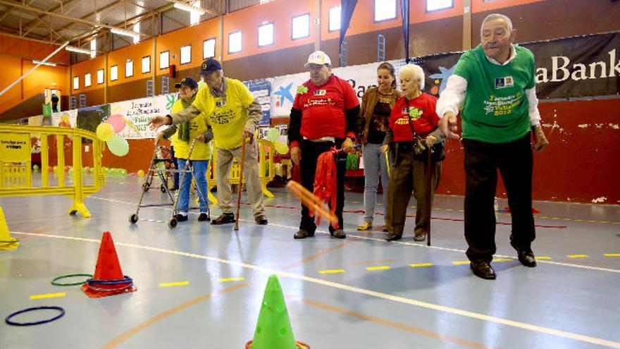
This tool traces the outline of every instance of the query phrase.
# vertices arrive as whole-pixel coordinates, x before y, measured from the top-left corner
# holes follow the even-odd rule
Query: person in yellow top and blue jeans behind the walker
[[[175,87],[179,89],[179,99],[173,104],[172,112],[178,113],[192,105],[198,92],[198,83],[192,78],[183,78]],[[198,190],[202,192],[202,195],[198,195],[200,201],[198,220],[208,221],[209,208],[207,207],[208,202],[205,202],[207,194],[206,170],[209,167],[209,157],[211,157],[211,145],[209,142],[213,139],[213,133],[209,125],[207,125],[206,116],[200,114],[190,121],[174,125],[159,134],[159,140],[168,137],[171,138],[175,149],[178,169],[185,169],[185,162],[187,160],[191,161]],[[192,140],[194,140],[194,147],[192,154],[190,154]],[[185,176],[181,173],[180,178],[183,178],[183,180],[179,186],[178,214],[175,217],[178,221],[187,221],[187,212],[190,210],[192,173],[187,172]]]

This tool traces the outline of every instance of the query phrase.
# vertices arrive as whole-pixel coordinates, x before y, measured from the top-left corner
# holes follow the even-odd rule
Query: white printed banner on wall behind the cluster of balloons
[[[154,138],[156,131],[147,126],[154,116],[170,114],[177,94],[131,99],[110,104],[109,123],[117,130],[116,135],[125,140]]]

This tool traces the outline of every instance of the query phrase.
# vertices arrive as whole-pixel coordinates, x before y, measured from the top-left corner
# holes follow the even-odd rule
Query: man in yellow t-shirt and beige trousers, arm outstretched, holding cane
[[[220,62],[206,59],[202,63],[200,75],[207,88],[199,90],[189,108],[166,116],[156,116],[149,123],[151,130],[161,125],[183,123],[204,113],[213,129],[213,142],[216,147],[216,182],[218,185],[218,206],[221,216],[211,224],[235,222],[233,192],[230,190],[230,164],[233,158],[241,159],[241,145],[246,137],[252,137],[262,116],[261,105],[254,99],[243,82],[225,78]],[[259,163],[256,142],[246,146],[244,176],[247,193],[256,224],[267,224],[263,204],[263,189],[259,177]]]

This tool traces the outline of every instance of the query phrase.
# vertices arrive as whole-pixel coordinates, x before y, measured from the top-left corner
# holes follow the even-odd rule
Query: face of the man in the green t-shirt
[[[514,39],[514,30],[508,30],[508,23],[502,18],[489,20],[482,26],[481,41],[485,55],[495,61],[504,63],[510,56],[510,44]]]

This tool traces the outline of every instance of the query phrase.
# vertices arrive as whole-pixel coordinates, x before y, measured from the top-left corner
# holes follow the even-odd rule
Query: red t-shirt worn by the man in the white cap
[[[321,137],[345,137],[345,111],[359,105],[359,99],[349,82],[332,75],[325,84],[316,86],[304,82],[308,91],[297,92],[293,108],[302,111],[299,133],[309,140]]]

